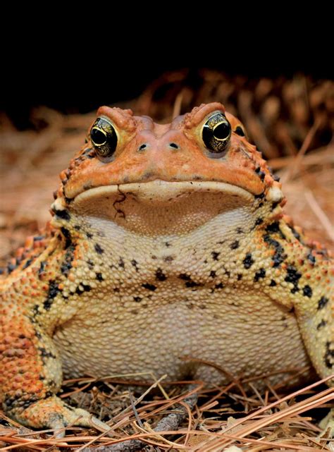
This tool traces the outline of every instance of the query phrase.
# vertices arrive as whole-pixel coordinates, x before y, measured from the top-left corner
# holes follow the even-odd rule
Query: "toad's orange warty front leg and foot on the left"
[[[51,338],[33,320],[4,307],[0,316],[0,400],[8,416],[27,427],[61,429],[69,424],[108,429],[85,410],[56,396],[61,360]]]

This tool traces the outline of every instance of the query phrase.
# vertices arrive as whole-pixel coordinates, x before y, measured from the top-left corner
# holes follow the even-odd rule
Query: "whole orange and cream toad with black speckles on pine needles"
[[[8,415],[31,427],[79,416],[89,425],[56,396],[63,375],[226,381],[192,358],[236,377],[296,371],[309,358],[321,377],[333,373],[331,258],[283,215],[280,183],[236,118],[226,114],[220,154],[206,148],[202,129],[217,111],[200,106],[159,126],[99,109],[116,133],[110,147],[106,135],[103,152],[90,140],[78,152],[51,225],[1,281]]]

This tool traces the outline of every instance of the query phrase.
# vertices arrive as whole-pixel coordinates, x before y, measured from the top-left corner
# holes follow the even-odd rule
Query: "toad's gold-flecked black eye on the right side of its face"
[[[202,138],[207,149],[221,154],[230,142],[231,126],[221,111],[212,114],[203,126]]]

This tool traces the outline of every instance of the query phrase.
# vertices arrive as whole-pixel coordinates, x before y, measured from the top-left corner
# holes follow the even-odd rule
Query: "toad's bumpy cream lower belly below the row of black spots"
[[[299,370],[309,359],[292,312],[259,293],[207,289],[154,294],[146,303],[127,298],[106,305],[89,300],[54,335],[65,377],[124,375],[151,379],[193,377],[227,381],[226,374],[192,359],[209,361],[234,377]],[[134,374],[133,377],[129,374]],[[135,374],[141,374],[135,376]],[[271,381],[280,381],[276,374]]]

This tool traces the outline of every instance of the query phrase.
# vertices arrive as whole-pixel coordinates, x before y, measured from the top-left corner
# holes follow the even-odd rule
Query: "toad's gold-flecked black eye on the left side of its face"
[[[90,129],[90,139],[99,157],[111,157],[116,151],[116,130],[107,118],[97,118]]]

